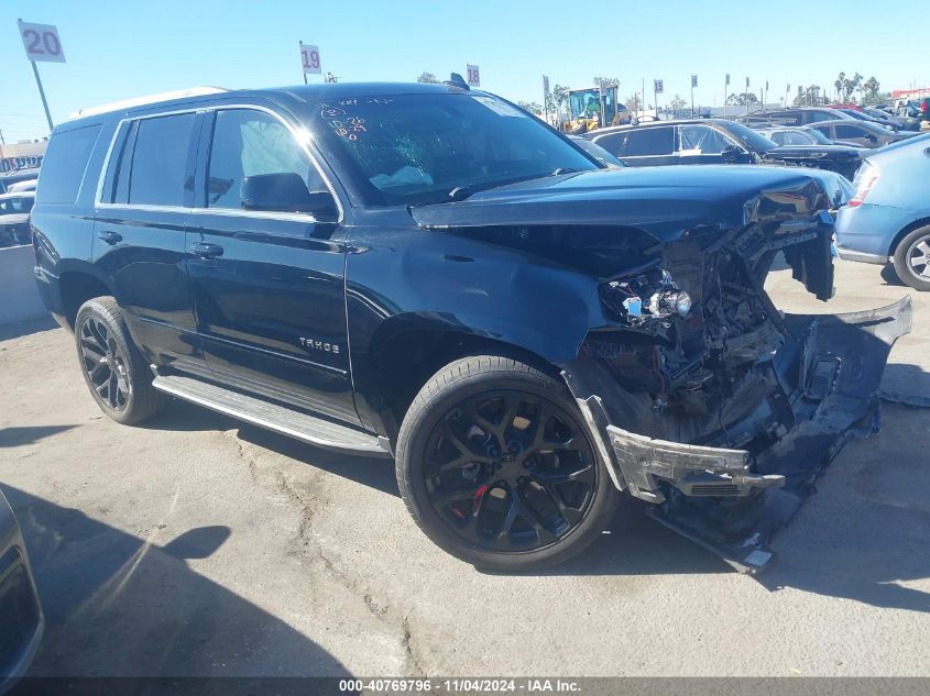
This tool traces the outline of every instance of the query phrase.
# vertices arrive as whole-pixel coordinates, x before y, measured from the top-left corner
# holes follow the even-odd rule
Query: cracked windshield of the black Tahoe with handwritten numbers
[[[600,168],[538,119],[486,95],[392,95],[316,106],[314,132],[373,206],[450,200],[453,191]]]

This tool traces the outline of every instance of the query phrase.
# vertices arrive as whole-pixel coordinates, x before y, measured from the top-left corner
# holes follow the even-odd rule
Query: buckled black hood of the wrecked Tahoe
[[[424,228],[620,225],[668,242],[686,230],[811,217],[843,205],[852,185],[832,172],[774,166],[628,167],[533,179],[467,200],[411,208]]]

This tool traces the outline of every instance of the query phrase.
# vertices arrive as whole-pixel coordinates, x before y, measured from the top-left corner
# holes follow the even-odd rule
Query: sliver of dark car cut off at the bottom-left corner
[[[0,694],[29,669],[44,620],[23,535],[0,493]]]

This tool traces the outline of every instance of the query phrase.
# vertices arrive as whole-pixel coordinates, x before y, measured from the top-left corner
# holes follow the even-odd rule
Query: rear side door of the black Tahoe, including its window
[[[185,259],[197,113],[128,119],[98,192],[94,264],[111,281],[136,344],[155,364],[203,368]]]

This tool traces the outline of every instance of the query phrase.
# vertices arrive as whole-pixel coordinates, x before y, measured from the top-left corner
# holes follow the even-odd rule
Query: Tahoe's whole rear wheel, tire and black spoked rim
[[[116,299],[87,300],[74,325],[78,363],[100,410],[118,423],[134,424],[165,408],[169,398],[152,386],[149,363],[132,342]]]

